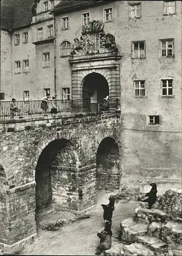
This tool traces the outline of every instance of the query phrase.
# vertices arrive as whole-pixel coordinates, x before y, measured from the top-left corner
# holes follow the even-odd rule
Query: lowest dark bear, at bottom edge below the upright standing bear
[[[100,238],[100,245],[97,247],[95,255],[100,255],[103,251],[108,250],[111,247],[111,223],[106,221],[104,230],[100,233],[98,232],[97,236]]]

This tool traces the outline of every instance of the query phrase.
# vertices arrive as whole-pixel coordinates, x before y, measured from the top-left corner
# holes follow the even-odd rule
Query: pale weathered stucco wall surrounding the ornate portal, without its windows
[[[141,1],[139,19],[129,17],[128,3],[116,1],[56,16],[57,88],[71,87],[69,57],[60,57],[61,43],[69,40],[73,44],[81,36],[82,13],[90,12],[90,20],[103,20],[103,9],[112,7],[113,21],[105,23],[104,31],[115,36],[122,55],[121,184],[145,190],[149,181],[156,181],[159,191],[164,191],[181,177],[181,2],[176,2],[176,14],[163,15],[162,1]],[[68,30],[61,29],[65,16],[69,16]],[[169,38],[174,39],[175,56],[162,59],[159,40]],[[131,42],[140,40],[145,41],[146,57],[132,59]],[[174,79],[172,98],[161,97],[163,78]],[[134,97],[134,79],[146,81],[146,97]],[[159,115],[160,124],[149,125],[149,114]]]

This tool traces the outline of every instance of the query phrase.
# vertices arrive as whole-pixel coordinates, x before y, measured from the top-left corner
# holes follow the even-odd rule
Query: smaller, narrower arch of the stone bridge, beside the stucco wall
[[[99,190],[119,189],[120,156],[118,143],[111,137],[103,139],[98,147],[97,187]]]

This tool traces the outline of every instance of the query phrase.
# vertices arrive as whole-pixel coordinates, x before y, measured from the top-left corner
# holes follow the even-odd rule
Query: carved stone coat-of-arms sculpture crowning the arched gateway
[[[105,34],[104,24],[99,20],[93,20],[83,26],[80,39],[74,39],[74,45],[71,50],[72,55],[86,55],[97,53],[118,53],[115,37],[111,34]]]

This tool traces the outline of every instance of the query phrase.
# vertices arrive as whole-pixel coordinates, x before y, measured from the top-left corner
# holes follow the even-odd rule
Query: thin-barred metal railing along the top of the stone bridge
[[[0,101],[0,117],[1,119],[10,119],[41,116],[44,114],[41,102],[41,100],[15,101],[16,109],[12,111],[11,101]],[[97,100],[49,100],[46,115],[55,114],[52,113],[53,106],[55,106],[57,114],[98,112],[108,109],[104,108],[103,103],[97,102]]]

